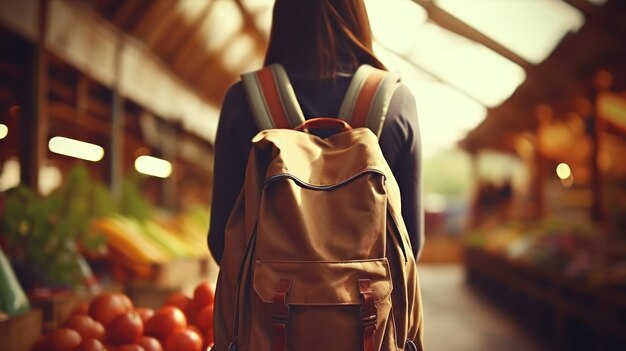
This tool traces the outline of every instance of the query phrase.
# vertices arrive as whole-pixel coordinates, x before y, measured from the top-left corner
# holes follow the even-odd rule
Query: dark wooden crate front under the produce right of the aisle
[[[626,350],[626,298],[466,249],[468,283],[555,350]]]

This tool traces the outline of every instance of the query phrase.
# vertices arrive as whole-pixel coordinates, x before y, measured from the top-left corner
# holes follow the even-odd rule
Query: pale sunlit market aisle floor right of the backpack
[[[426,350],[546,350],[465,285],[463,266],[422,264],[420,282]]]

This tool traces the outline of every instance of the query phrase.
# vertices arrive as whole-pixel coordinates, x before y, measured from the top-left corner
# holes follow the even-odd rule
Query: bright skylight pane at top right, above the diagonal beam
[[[585,22],[580,11],[561,0],[435,2],[440,8],[535,64],[548,57],[568,32],[577,31]]]

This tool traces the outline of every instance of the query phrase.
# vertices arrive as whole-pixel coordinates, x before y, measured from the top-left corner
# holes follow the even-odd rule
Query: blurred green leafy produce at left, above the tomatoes
[[[89,232],[88,224],[115,211],[108,190],[91,181],[84,166],[77,166],[48,196],[18,186],[7,190],[5,199],[0,227],[14,264],[29,272],[22,279],[18,271],[28,282],[24,287],[81,287],[91,272],[76,244],[93,249],[104,243]]]

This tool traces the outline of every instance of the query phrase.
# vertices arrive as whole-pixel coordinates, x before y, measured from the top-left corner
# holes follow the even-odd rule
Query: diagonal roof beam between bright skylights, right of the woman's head
[[[528,70],[532,66],[530,62],[528,62],[526,59],[522,58],[518,54],[504,47],[502,44],[496,42],[495,40],[478,31],[474,27],[468,25],[467,23],[461,21],[457,17],[438,7],[433,1],[413,1],[421,5],[428,13],[428,18],[433,22],[436,22],[440,27],[484,45],[485,47],[495,51],[501,56],[504,56],[510,61],[513,61],[516,64],[520,65],[525,70]]]

